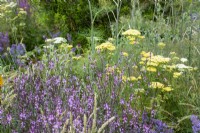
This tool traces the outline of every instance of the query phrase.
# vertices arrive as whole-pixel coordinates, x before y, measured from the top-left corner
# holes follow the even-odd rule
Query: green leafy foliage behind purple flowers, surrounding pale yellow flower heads
[[[191,132],[189,116],[200,114],[200,2],[124,0],[121,7],[118,7],[120,4],[114,3],[119,2],[115,0],[90,2],[92,10],[89,9],[87,0],[32,1],[31,17],[23,13],[15,16],[13,10],[19,9],[5,10],[2,6],[0,13],[5,15],[1,17],[8,19],[0,20],[3,24],[0,30],[9,31],[12,42],[23,39],[28,50],[39,45],[39,49],[26,53],[24,58],[27,64],[29,61],[41,60],[46,67],[52,61],[55,70],[49,72],[49,75],[67,77],[74,74],[80,77],[84,84],[90,82],[86,76],[91,76],[94,82],[97,81],[97,75],[103,73],[102,79],[109,78],[109,85],[104,88],[104,93],[98,94],[101,97],[98,100],[102,103],[112,101],[110,96],[114,89],[112,83],[115,75],[111,75],[110,71],[114,71],[116,75],[121,74],[123,82],[117,86],[117,100],[124,98],[128,101],[130,94],[134,93],[134,109],[141,112],[154,109],[157,111],[157,118],[172,125],[176,132]],[[120,13],[118,19],[117,12]],[[122,33],[130,28],[140,30],[145,39],[141,39],[143,36],[125,37]],[[59,44],[50,41],[42,44],[42,35],[58,31],[63,37],[70,33],[72,41]],[[113,38],[108,39],[109,37]],[[116,49],[109,51],[102,48],[102,51],[94,50],[93,53],[88,50],[92,43],[91,38],[94,39],[94,46],[108,39]],[[158,46],[160,42],[164,42],[165,46]],[[81,44],[81,47],[77,44]],[[76,51],[72,51],[72,47],[76,48]],[[142,51],[152,52],[159,57],[169,57],[170,61],[159,64],[155,73],[148,71],[148,59],[141,62]],[[123,55],[124,52],[128,55]],[[181,63],[180,58],[187,58],[185,65],[197,70],[178,70],[176,65]],[[170,66],[176,66],[176,69],[166,71]],[[174,78],[174,72],[181,72],[181,77]],[[41,73],[41,77],[47,78],[46,73],[48,72]],[[131,76],[135,76],[137,81],[131,81]],[[173,91],[152,89],[151,82],[161,82],[172,87]],[[93,89],[98,93],[96,86]],[[113,107],[121,113],[122,107],[118,107],[116,103]]]

